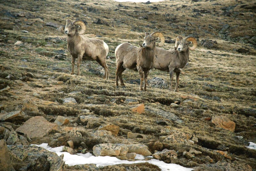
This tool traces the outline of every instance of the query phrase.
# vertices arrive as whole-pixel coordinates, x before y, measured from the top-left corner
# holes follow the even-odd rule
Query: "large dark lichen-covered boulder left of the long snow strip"
[[[64,168],[63,155],[58,156],[55,152],[50,152],[42,147],[32,145],[25,148],[23,145],[10,145],[8,149],[12,153],[10,156],[13,166],[16,165],[18,168],[29,167],[32,170],[37,170],[33,166],[38,166],[38,168],[42,169],[45,167],[41,165],[47,165],[47,161],[50,162],[51,166],[50,170],[48,169],[49,171],[62,171]],[[47,160],[42,159],[44,156],[46,156]]]

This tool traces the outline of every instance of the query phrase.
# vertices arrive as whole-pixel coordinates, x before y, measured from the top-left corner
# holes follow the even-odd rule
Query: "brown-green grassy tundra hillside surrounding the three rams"
[[[49,143],[52,147],[68,146],[72,140],[77,152],[86,148],[85,152],[92,153],[93,146],[101,143],[142,144],[151,153],[164,149],[179,151],[177,159],[162,160],[185,167],[236,170],[244,168],[241,165],[246,163],[255,170],[256,152],[246,147],[248,142],[255,143],[256,135],[255,9],[253,0],[151,4],[100,0],[2,1],[0,139],[8,140],[11,132],[19,139],[6,141],[16,144],[8,146],[9,163],[16,170],[33,163],[29,159],[37,148],[30,151],[32,147],[26,146],[18,153],[21,140],[23,144],[27,139],[29,144]],[[66,25],[66,19],[82,20],[87,26],[84,37],[108,44],[109,80],[102,79],[104,70],[96,61],[82,61],[81,76],[70,75],[67,35],[57,30]],[[164,88],[150,84],[148,92],[141,93],[138,72],[126,70],[122,76],[127,87],[116,89],[116,47],[124,42],[138,46],[145,32],[163,33],[164,49],[173,49],[177,36],[184,39],[193,36],[197,40],[196,49],[190,52],[189,61],[182,69],[180,92],[169,91],[169,75],[155,69],[148,74],[148,81],[161,78],[167,82]],[[15,117],[6,120],[6,113]],[[69,123],[54,127],[44,137],[30,141],[20,132],[16,134],[15,130],[31,117],[43,117],[53,124],[59,115],[69,119]],[[85,116],[96,121],[89,122]],[[229,123],[228,130],[219,127],[224,126],[221,121]],[[105,137],[95,135],[93,131],[104,122],[120,127],[117,136],[109,132]],[[73,128],[76,131],[70,131]],[[74,138],[74,134],[78,137]],[[184,144],[191,140],[194,144]],[[202,153],[195,154],[191,148]],[[36,161],[45,161],[45,157]],[[151,167],[137,164],[131,168],[135,166],[140,170]],[[65,167],[75,169],[75,166]],[[85,167],[93,165],[76,166],[82,167],[86,170]],[[116,170],[129,168],[115,167],[119,167]]]

